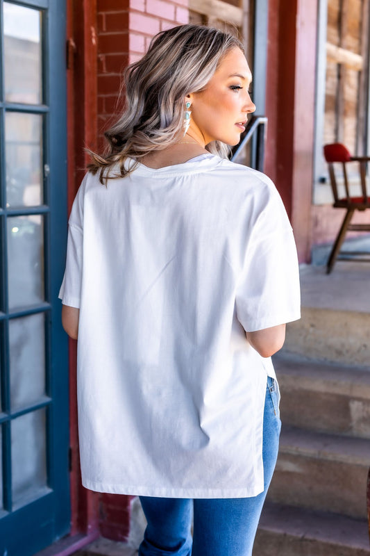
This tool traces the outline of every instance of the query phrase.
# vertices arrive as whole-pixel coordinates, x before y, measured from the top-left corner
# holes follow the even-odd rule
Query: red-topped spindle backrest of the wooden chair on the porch
[[[360,165],[360,183],[361,183],[361,190],[362,190],[362,199],[360,199],[360,201],[358,202],[367,204],[368,196],[367,196],[366,174],[367,174],[367,162],[370,161],[370,158],[368,156],[351,156],[348,149],[344,145],[342,145],[342,143],[332,143],[330,145],[324,145],[323,155],[325,156],[325,160],[328,163],[330,184],[333,190],[335,202],[339,201],[339,195],[338,195],[337,179],[334,170],[334,163],[335,162],[342,163],[344,188],[346,191],[346,200],[348,203],[351,203],[352,202],[351,199],[353,199],[353,195],[351,196],[350,193],[350,184],[348,181],[346,165],[348,162],[358,162]]]

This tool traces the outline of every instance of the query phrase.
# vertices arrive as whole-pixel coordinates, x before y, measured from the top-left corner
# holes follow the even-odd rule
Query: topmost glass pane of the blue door
[[[3,26],[6,101],[41,104],[41,13],[4,2]]]

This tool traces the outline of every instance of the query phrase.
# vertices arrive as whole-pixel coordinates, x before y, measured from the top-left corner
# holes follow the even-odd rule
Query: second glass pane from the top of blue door
[[[42,203],[42,116],[7,112],[6,206]]]

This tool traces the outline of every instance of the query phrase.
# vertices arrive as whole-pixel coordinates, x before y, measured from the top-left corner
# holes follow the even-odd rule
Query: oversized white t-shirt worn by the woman
[[[60,298],[80,308],[83,484],[238,498],[263,490],[271,359],[255,331],[300,316],[296,248],[274,184],[209,155],[83,179]]]

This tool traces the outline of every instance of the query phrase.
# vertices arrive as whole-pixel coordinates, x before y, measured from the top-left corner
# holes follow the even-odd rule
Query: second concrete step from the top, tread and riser
[[[277,354],[283,423],[370,439],[370,373]],[[369,462],[370,464],[370,462]]]

